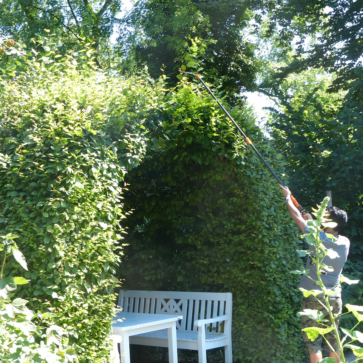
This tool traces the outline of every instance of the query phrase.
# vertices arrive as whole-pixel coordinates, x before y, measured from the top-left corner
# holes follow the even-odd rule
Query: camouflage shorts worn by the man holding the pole
[[[329,304],[333,309],[333,314],[341,314],[342,313],[342,299],[340,297],[329,297]],[[330,324],[330,317],[329,313],[326,311],[326,309],[319,303],[319,301],[313,296],[310,295],[309,297],[303,297],[302,299],[302,309],[312,309],[312,310],[321,310],[326,313],[325,318],[329,320],[329,322],[325,322],[327,325]],[[310,319],[306,315],[303,315],[301,317],[301,323],[302,323],[302,329],[307,327],[320,327],[325,328],[325,326],[320,325],[317,321]],[[335,323],[339,324],[339,318],[335,320]],[[337,338],[335,337],[334,331],[331,331],[330,333],[327,333],[324,335],[324,338],[330,343],[330,345],[334,348],[335,352],[339,352],[339,347],[337,344]],[[308,354],[312,353],[318,353],[321,350],[326,350],[328,352],[331,352],[331,348],[323,339],[321,335],[318,336],[312,342],[310,339],[307,338],[307,335],[305,331],[302,332],[302,339],[304,343],[306,344],[306,351]]]

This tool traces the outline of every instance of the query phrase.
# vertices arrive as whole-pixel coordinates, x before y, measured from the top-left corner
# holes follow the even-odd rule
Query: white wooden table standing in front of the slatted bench
[[[116,321],[117,319],[123,319]],[[168,329],[169,363],[178,363],[178,351],[176,348],[176,321],[183,319],[183,315],[168,314],[143,314],[143,313],[117,313],[112,324],[113,362],[118,362],[117,343],[120,343],[121,363],[130,363],[129,337],[150,331]]]

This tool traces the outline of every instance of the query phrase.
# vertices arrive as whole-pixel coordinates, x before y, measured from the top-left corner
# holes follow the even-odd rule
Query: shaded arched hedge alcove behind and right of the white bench
[[[296,236],[281,191],[216,103],[181,82],[149,114],[147,154],[126,178],[123,287],[231,291],[234,359],[298,362]],[[243,109],[243,106],[241,106]],[[281,175],[248,110],[232,110]]]

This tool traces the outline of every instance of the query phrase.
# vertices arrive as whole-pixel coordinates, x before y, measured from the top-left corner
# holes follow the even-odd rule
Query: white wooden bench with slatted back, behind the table
[[[206,350],[224,347],[225,363],[232,363],[232,293],[121,290],[118,305],[129,313],[178,314],[177,346],[197,350],[207,363]],[[168,346],[166,330],[130,337],[130,344]]]

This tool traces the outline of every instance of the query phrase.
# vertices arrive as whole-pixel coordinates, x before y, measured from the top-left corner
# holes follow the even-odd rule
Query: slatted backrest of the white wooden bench
[[[125,312],[183,315],[183,319],[176,323],[176,328],[197,331],[195,320],[232,313],[232,294],[121,290],[118,305]],[[220,333],[220,323],[207,324],[205,329],[210,333]]]

